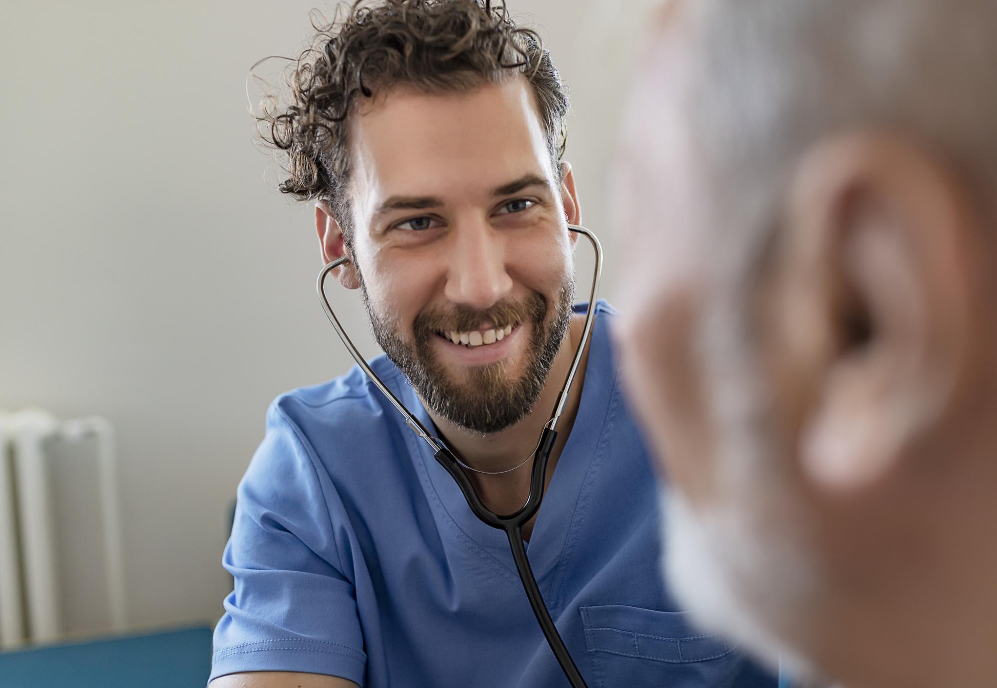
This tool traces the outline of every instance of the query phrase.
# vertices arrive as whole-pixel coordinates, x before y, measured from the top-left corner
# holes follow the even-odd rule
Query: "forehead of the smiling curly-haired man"
[[[391,90],[352,118],[350,138],[361,196],[446,198],[492,189],[526,172],[551,178],[546,137],[524,77],[454,94]]]

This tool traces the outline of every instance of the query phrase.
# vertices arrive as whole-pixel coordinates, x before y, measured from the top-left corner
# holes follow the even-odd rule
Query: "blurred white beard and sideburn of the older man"
[[[797,683],[823,684],[802,651],[822,578],[806,526],[788,516],[793,492],[776,459],[769,390],[741,329],[743,312],[709,312],[701,332],[718,492],[693,508],[678,491],[659,487],[662,573],[701,627],[773,669],[782,665]]]

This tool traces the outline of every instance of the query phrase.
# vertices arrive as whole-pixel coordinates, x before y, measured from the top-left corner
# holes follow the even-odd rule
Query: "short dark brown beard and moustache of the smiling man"
[[[361,282],[364,305],[374,338],[409,379],[427,408],[465,430],[498,433],[521,421],[532,410],[560,351],[571,318],[573,275],[562,283],[557,303],[533,292],[522,301],[500,301],[486,310],[457,305],[450,311],[427,310],[413,322],[414,341],[399,334],[398,325],[372,307]],[[548,316],[549,311],[553,313]],[[483,321],[496,325],[530,323],[524,370],[513,377],[506,361],[475,366],[456,381],[433,352],[433,338],[449,330],[477,330]]]

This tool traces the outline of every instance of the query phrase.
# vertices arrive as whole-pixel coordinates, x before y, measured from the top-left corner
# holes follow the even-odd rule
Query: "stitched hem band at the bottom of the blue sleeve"
[[[321,647],[296,644],[276,642],[268,647],[239,646],[217,650],[211,659],[208,683],[219,676],[245,671],[294,671],[338,676],[363,685],[364,653],[329,643],[316,643]]]

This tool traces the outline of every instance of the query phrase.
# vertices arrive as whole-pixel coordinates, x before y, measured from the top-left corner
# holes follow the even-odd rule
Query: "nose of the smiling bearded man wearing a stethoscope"
[[[454,303],[485,310],[512,289],[505,270],[505,239],[487,222],[459,226],[447,260],[445,295]]]

